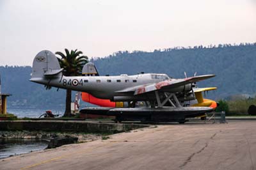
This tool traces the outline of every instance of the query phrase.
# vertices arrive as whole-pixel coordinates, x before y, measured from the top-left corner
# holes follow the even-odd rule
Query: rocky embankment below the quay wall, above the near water
[[[44,131],[0,131],[0,138],[13,139],[44,139],[48,148],[56,148],[63,144],[84,143],[100,139],[101,134],[44,132]]]

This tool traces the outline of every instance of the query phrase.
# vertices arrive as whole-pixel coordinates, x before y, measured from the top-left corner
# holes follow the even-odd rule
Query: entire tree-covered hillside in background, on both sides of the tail
[[[84,52],[86,54],[86,52]],[[214,73],[216,77],[198,82],[198,86],[217,86],[209,92],[214,99],[235,94],[254,95],[256,92],[256,43],[209,47],[177,47],[154,52],[116,52],[106,58],[95,58],[100,75],[121,73],[167,73],[170,77]],[[1,64],[1,63],[0,63]],[[12,93],[9,106],[60,106],[65,104],[65,91],[29,82],[31,66],[0,66],[2,91]]]

